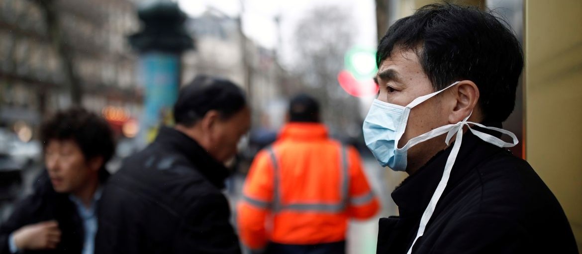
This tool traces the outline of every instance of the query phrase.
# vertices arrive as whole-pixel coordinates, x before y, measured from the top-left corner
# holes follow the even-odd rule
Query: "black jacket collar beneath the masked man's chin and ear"
[[[501,124],[486,124],[487,126],[501,126]],[[491,133],[487,129],[473,127],[484,133],[497,135]],[[453,145],[451,144],[445,150],[438,152],[431,160],[412,176],[406,178],[399,187],[392,192],[392,199],[398,205],[400,210],[400,217],[420,217],[427,207],[432,194],[439,181],[441,181],[442,173],[445,169],[446,160],[448,159]],[[446,195],[448,189],[454,188],[468,173],[470,173],[478,164],[484,162],[485,159],[499,152],[501,148],[491,145],[480,138],[476,137],[471,131],[466,131],[463,134],[463,142],[455,165],[451,170],[449,181],[446,185],[443,196]]]

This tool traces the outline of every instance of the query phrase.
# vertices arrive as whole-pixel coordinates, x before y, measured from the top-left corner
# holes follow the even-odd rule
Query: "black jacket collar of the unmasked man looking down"
[[[186,157],[217,188],[225,187],[224,181],[229,176],[229,170],[212,158],[194,139],[175,128],[161,127],[154,142]]]

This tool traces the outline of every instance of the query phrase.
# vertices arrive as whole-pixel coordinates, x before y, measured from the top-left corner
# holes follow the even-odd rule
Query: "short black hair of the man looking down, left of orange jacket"
[[[244,91],[229,80],[197,76],[180,90],[174,105],[176,124],[191,127],[210,110],[217,110],[222,119],[229,119],[246,107]]]

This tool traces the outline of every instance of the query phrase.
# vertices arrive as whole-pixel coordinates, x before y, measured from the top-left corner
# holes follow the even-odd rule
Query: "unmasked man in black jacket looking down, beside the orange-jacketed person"
[[[95,253],[240,253],[221,189],[250,126],[244,92],[198,76],[173,116],[176,126],[162,127],[105,187]]]

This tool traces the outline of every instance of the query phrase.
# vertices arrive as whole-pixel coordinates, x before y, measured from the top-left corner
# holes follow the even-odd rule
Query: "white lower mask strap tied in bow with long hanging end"
[[[469,116],[471,116],[471,115],[469,115]],[[453,149],[450,151],[449,158],[447,158],[447,160],[446,160],[445,170],[442,173],[441,181],[439,181],[439,183],[437,185],[437,189],[435,189],[434,194],[432,194],[431,201],[428,202],[427,208],[424,210],[423,216],[420,219],[420,225],[418,226],[418,231],[416,233],[416,237],[414,238],[414,241],[412,242],[412,245],[410,246],[410,249],[408,250],[407,254],[412,253],[412,248],[413,248],[414,244],[416,244],[416,240],[419,237],[423,236],[424,230],[427,227],[428,221],[431,219],[432,213],[434,213],[434,210],[437,207],[437,203],[438,203],[439,199],[441,198],[443,191],[445,191],[446,184],[449,181],[450,171],[453,169],[453,165],[455,164],[455,160],[457,159],[457,155],[459,154],[459,150],[461,148],[461,142],[463,141],[463,126],[469,127],[469,130],[471,131],[471,133],[473,133],[475,136],[481,138],[483,141],[488,142],[488,143],[493,144],[493,145],[496,145],[496,146],[501,147],[501,148],[512,147],[514,145],[517,145],[517,143],[519,142],[517,140],[516,135],[511,133],[510,131],[503,130],[502,128],[489,127],[489,126],[484,126],[484,125],[479,124],[479,123],[473,123],[473,122],[467,121],[467,119],[469,119],[469,116],[467,116],[463,121],[460,121],[457,124],[443,126],[444,128],[443,127],[435,128],[434,130],[422,135],[423,138],[420,138],[420,139],[414,140],[414,141],[413,141],[413,139],[411,139],[410,141],[413,141],[413,142],[409,142],[410,146],[413,146],[419,142],[423,142],[424,140],[421,141],[422,139],[434,138],[438,135],[448,133],[446,136],[446,139],[445,139],[445,142],[448,145],[450,142],[450,139],[453,138],[453,135],[456,134],[456,137],[457,137],[455,144],[453,144]],[[502,141],[501,139],[499,139],[497,137],[489,135],[487,133],[482,133],[481,131],[474,130],[473,128],[471,128],[471,126],[469,124],[474,124],[475,126],[478,126],[481,128],[495,130],[495,131],[499,131],[500,133],[509,135],[509,137],[511,137],[513,139],[513,142],[508,143],[508,142]],[[409,146],[409,144],[406,144],[405,146]]]

